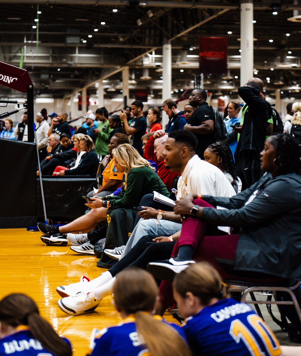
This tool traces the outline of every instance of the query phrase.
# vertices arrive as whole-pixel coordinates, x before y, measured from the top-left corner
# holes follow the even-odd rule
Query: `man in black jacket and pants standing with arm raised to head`
[[[264,148],[266,127],[272,115],[271,105],[265,100],[263,81],[251,78],[244,87],[238,88],[245,104],[242,110],[238,145],[235,152],[237,174],[242,180],[242,190],[249,188],[263,175],[260,169],[260,152]]]

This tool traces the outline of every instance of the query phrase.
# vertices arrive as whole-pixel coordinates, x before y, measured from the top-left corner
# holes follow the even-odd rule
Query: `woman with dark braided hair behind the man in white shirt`
[[[230,183],[237,180],[236,166],[229,145],[216,142],[209,145],[204,152],[205,161],[213,164],[225,174]]]

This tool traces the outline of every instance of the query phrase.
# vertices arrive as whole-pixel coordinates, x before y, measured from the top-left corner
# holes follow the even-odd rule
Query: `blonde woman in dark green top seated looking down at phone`
[[[82,142],[82,141],[80,141]],[[145,194],[153,193],[155,190],[166,197],[169,197],[169,192],[159,178],[154,168],[149,162],[142,158],[138,151],[128,143],[119,145],[113,152],[115,159],[115,167],[118,172],[124,172],[122,179],[122,189],[119,195],[109,197],[93,197],[86,205],[91,208],[88,214],[72,221],[64,226],[53,226],[39,223],[38,228],[45,234],[42,241],[46,244],[67,245],[67,236],[65,234],[73,233],[85,234],[90,232],[102,220],[107,218],[107,209],[132,209],[134,206],[139,206],[142,197]],[[134,212],[136,215],[137,211]],[[51,235],[56,235],[51,238]],[[59,235],[57,235],[59,234]],[[48,236],[47,236],[48,235]],[[88,240],[88,236],[85,236]],[[119,245],[120,246],[120,245]],[[86,247],[86,246],[85,246]],[[94,246],[90,246],[93,251]],[[114,248],[106,247],[106,248]],[[78,252],[78,251],[76,251]],[[83,251],[83,253],[87,253]],[[89,252],[88,252],[89,253]]]

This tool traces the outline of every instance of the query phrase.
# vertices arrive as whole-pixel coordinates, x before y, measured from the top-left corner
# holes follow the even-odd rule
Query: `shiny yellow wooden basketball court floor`
[[[78,282],[82,275],[93,279],[106,270],[96,267],[95,256],[79,255],[69,246],[47,246],[40,236],[40,232],[26,229],[0,229],[0,298],[10,293],[29,295],[58,334],[68,337],[74,355],[86,355],[93,328],[102,329],[121,321],[112,297],[104,298],[93,313],[69,316],[57,306],[60,296],[56,287]],[[176,323],[169,313],[165,317]]]

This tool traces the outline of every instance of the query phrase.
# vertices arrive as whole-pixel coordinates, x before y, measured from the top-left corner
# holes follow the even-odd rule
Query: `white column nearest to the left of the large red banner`
[[[163,83],[162,83],[162,103],[164,100],[169,99],[171,94],[171,44],[165,43],[162,47],[162,67],[163,67]],[[168,116],[165,112],[162,113],[162,126],[168,123]]]

